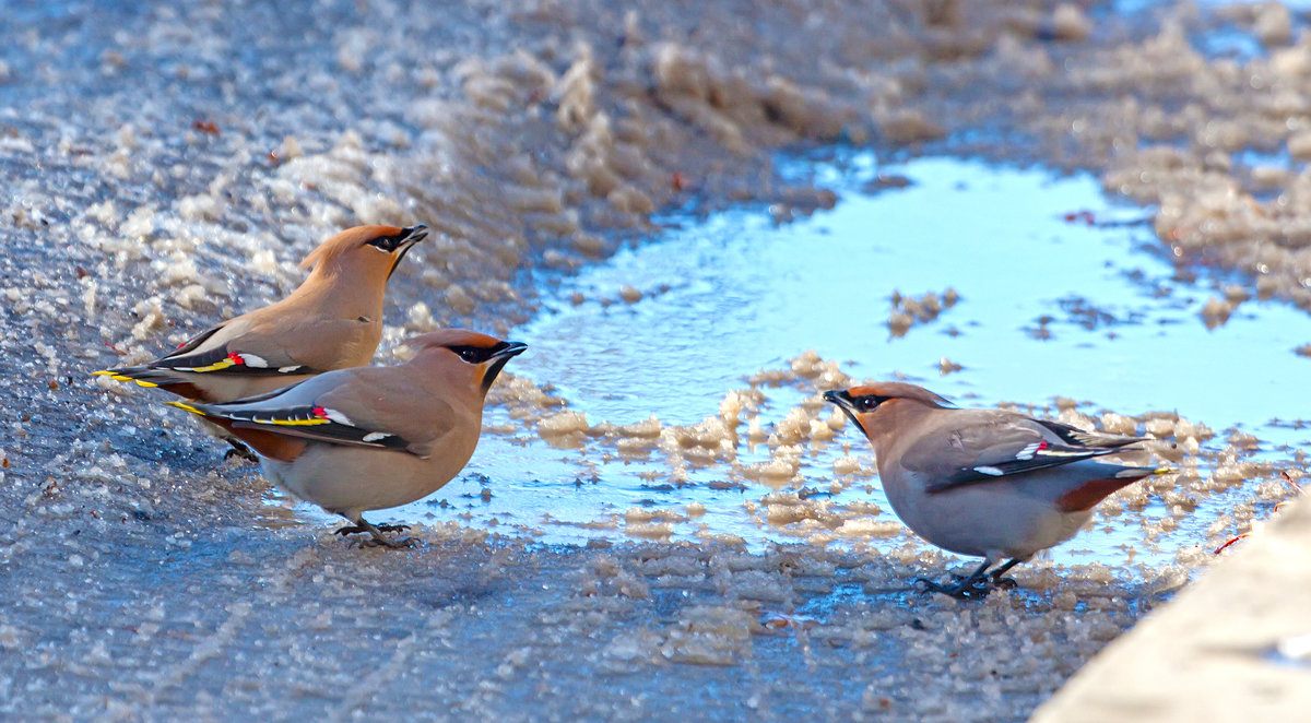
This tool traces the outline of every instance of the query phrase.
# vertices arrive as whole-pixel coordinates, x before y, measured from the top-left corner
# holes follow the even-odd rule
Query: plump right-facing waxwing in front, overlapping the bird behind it
[[[405,344],[417,352],[397,367],[338,369],[232,402],[169,403],[249,444],[273,483],[350,520],[338,534],[406,546],[383,534],[402,528],[375,527],[363,513],[425,498],[464,469],[488,389],[527,346],[463,329]]]

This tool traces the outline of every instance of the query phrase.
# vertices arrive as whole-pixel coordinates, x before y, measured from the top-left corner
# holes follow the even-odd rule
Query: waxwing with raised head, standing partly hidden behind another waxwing
[[[382,341],[387,279],[425,236],[423,224],[349,228],[300,262],[309,275],[286,299],[211,326],[148,364],[93,373],[227,402],[368,364]]]

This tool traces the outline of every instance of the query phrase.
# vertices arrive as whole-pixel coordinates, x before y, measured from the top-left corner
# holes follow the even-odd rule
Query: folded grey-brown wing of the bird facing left
[[[1084,432],[1020,414],[952,411],[901,457],[901,465],[931,482],[928,494],[979,485],[1036,469],[1110,454],[1137,437]]]

